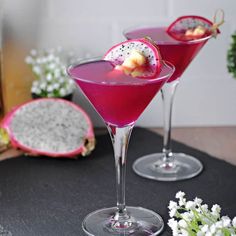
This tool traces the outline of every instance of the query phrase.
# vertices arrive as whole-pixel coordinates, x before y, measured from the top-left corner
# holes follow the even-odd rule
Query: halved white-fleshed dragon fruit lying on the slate
[[[64,99],[43,98],[16,107],[2,121],[11,145],[33,155],[75,157],[94,149],[88,115]]]

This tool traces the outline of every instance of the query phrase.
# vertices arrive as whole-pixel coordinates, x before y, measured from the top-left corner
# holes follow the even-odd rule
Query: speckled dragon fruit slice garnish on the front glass
[[[138,78],[156,78],[162,60],[158,47],[149,39],[133,39],[113,46],[104,56],[116,70]]]

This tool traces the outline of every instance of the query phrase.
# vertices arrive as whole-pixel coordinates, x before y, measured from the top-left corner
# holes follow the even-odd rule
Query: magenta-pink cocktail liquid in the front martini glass
[[[164,67],[164,75],[168,67]],[[75,67],[73,73],[76,83],[106,123],[123,127],[133,124],[166,78],[138,79],[114,70],[109,61],[97,61]]]

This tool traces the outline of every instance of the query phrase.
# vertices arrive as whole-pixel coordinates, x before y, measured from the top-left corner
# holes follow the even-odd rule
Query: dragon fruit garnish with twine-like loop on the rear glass
[[[217,10],[213,22],[201,16],[181,16],[168,28],[167,33],[178,41],[191,41],[220,33],[219,26],[224,23],[223,10]]]

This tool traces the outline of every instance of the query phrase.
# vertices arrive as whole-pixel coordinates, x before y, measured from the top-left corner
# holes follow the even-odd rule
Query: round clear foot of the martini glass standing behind
[[[172,153],[168,164],[163,162],[163,153],[154,153],[137,159],[133,164],[134,172],[144,178],[160,181],[177,181],[197,176],[202,170],[202,163],[184,153]]]

